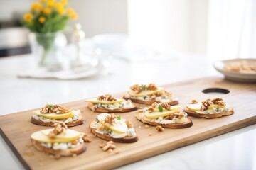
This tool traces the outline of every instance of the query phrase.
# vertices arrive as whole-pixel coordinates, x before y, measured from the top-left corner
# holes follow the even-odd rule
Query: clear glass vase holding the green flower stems
[[[38,67],[45,67],[50,71],[62,69],[62,51],[67,45],[64,33],[31,33],[30,42]]]

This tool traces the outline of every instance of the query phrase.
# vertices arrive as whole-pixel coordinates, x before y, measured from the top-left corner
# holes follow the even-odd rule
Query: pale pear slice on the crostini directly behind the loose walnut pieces
[[[119,123],[112,125],[110,123],[103,123],[103,120],[105,120],[105,118],[107,116],[110,116],[110,114],[108,113],[102,113],[100,115],[97,116],[97,119],[99,120],[99,122],[104,125],[106,128],[113,130],[114,132],[118,132],[118,133],[125,133],[127,132],[128,128],[127,128],[127,124],[125,122],[123,122],[122,120],[119,121]]]

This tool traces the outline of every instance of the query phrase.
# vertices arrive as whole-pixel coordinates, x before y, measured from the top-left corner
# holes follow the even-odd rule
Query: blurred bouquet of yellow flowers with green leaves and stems
[[[49,51],[53,49],[55,35],[65,29],[70,19],[77,19],[78,14],[69,8],[68,0],[40,0],[31,5],[30,12],[23,16],[23,26],[38,34],[36,41],[43,47],[43,54],[39,65],[43,62]]]

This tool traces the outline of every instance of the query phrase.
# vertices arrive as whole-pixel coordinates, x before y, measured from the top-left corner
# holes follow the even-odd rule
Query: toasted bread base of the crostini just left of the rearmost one
[[[94,112],[99,112],[99,113],[124,113],[124,112],[130,112],[130,111],[135,111],[137,110],[137,107],[132,104],[132,106],[127,107],[127,108],[93,108],[94,104],[93,103],[88,103],[88,108]]]

